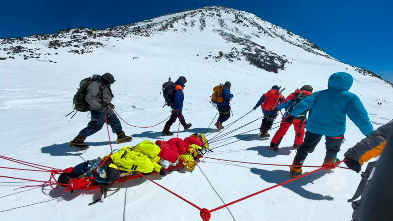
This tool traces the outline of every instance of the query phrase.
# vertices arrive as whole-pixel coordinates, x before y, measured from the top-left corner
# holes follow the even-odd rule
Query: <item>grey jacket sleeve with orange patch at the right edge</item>
[[[393,120],[373,131],[354,147],[349,148],[344,156],[358,161],[361,165],[369,159],[379,156],[387,142],[393,135]]]

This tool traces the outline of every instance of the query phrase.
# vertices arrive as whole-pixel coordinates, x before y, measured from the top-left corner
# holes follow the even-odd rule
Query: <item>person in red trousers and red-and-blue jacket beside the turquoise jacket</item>
[[[289,113],[296,106],[297,103],[308,97],[312,94],[312,87],[310,85],[304,85],[302,88],[297,89],[295,92],[290,94],[280,105],[277,106],[276,110],[281,111],[281,109],[285,109],[285,114],[282,116],[281,124],[279,130],[274,135],[272,141],[270,142],[270,150],[276,151],[279,149],[280,142],[282,138],[285,136],[289,127],[293,124],[295,129],[295,142],[293,143],[293,147],[299,148],[303,143],[304,138],[304,128],[306,126],[306,114],[307,111],[304,111],[299,116],[295,117],[295,119],[291,123],[285,122],[285,118],[289,116]]]

